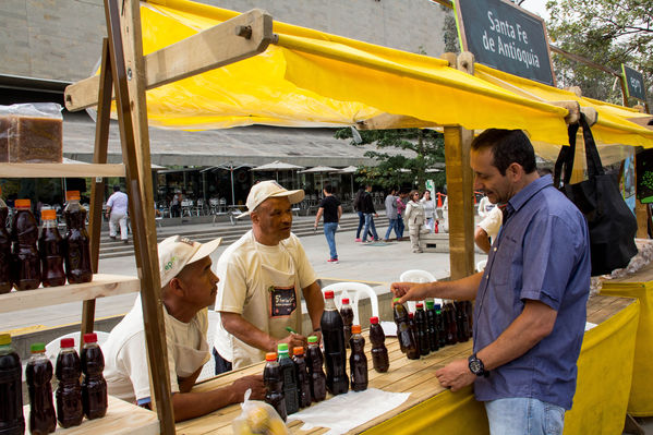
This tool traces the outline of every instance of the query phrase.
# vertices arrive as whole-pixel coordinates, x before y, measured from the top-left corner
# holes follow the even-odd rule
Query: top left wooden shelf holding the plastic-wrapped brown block
[[[0,164],[3,178],[124,177],[122,164]]]

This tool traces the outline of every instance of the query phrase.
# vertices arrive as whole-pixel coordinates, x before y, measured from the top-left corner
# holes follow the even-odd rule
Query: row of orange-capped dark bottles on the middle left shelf
[[[63,212],[65,237],[61,237],[53,209],[41,210],[43,228],[32,214],[29,200],[15,201],[11,234],[5,221],[9,208],[0,200],[0,293],[44,287],[89,282],[90,247],[86,231],[86,209],[80,205],[80,192],[65,193]],[[65,268],[64,268],[65,266]]]

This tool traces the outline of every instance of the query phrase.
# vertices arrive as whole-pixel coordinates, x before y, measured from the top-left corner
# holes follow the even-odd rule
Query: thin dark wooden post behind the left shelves
[[[107,162],[109,146],[109,120],[111,114],[111,61],[109,57],[109,41],[102,40],[102,63],[100,72],[100,86],[98,88],[97,126],[95,130],[94,164]],[[90,184],[90,210],[88,219],[90,238],[90,266],[97,274],[100,252],[100,232],[102,226],[102,200],[105,195],[105,179],[97,177]],[[95,322],[95,299],[84,301],[82,306],[82,335],[93,333]],[[80,343],[82,347],[83,343]]]

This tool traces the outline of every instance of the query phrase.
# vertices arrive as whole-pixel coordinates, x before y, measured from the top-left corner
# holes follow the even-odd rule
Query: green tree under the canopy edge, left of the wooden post
[[[370,130],[360,132],[360,141],[352,137],[351,129],[340,129],[337,138],[351,138],[353,146],[374,144],[375,150],[365,157],[375,159],[378,165],[363,166],[356,181],[389,189],[392,186],[416,186],[424,189],[427,179],[436,186],[445,185],[445,138],[442,133],[425,129]],[[396,153],[389,153],[389,149]],[[440,172],[426,172],[442,168]],[[403,170],[402,170],[403,169]]]

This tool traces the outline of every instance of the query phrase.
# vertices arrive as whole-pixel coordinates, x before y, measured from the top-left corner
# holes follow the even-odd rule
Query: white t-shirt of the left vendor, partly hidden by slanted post
[[[168,367],[172,392],[179,392],[178,378],[186,378],[210,359],[206,333],[207,310],[201,310],[189,323],[168,314],[164,305]],[[129,402],[148,402],[149,372],[143,327],[141,297],[124,318],[116,325],[105,345],[105,378],[109,395]]]

